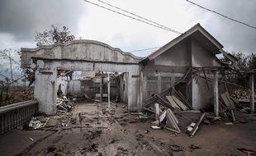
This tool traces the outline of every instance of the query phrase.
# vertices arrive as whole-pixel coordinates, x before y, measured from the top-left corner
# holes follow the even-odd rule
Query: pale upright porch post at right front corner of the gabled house
[[[214,102],[214,112],[216,117],[219,117],[219,85],[218,85],[218,73],[219,71],[214,71],[213,79],[213,102]]]

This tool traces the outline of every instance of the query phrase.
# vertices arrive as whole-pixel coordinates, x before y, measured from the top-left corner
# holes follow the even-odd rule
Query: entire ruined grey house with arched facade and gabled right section
[[[222,48],[197,24],[148,57],[136,57],[102,42],[80,39],[21,48],[21,67],[36,71],[34,92],[39,112],[49,115],[56,112],[59,89],[64,94],[87,94],[92,99],[120,96],[128,111],[140,112],[148,99],[173,88],[191,108],[199,110],[213,104],[218,116],[218,79],[224,67],[216,55],[222,53]],[[60,74],[70,71],[87,74],[78,80],[64,79]],[[105,76],[97,76],[97,72]],[[110,73],[115,74],[110,78]],[[104,84],[110,90],[104,89]]]

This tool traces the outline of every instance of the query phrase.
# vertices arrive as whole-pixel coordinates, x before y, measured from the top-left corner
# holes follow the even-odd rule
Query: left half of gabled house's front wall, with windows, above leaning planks
[[[143,67],[143,101],[158,94],[170,86],[187,72],[188,41],[183,40]]]

